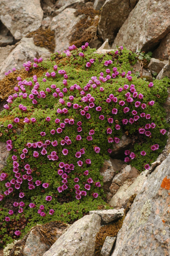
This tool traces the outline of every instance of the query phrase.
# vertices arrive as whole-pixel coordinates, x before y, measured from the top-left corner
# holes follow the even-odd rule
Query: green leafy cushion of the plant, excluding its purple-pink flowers
[[[7,140],[12,141],[12,150],[10,151],[10,155],[7,159],[7,166],[3,169],[3,173],[7,173],[7,178],[0,182],[0,190],[5,192],[7,190],[5,183],[10,182],[12,179],[17,179],[15,173],[13,172],[13,160],[12,155],[17,156],[17,162],[19,163],[19,173],[23,177],[23,175],[29,175],[32,177],[33,186],[32,189],[28,188],[28,177],[26,179],[23,178],[22,184],[19,189],[15,189],[15,185],[12,185],[14,188],[13,192],[10,193],[6,198],[11,198],[13,201],[20,202],[24,201],[25,206],[23,207],[23,213],[18,213],[19,208],[15,208],[16,211],[13,215],[8,214],[8,210],[5,205],[5,199],[0,202],[1,214],[0,214],[0,238],[2,240],[2,245],[5,243],[11,242],[11,239],[16,239],[16,235],[14,232],[16,230],[20,230],[22,232],[22,236],[36,223],[43,224],[49,221],[63,221],[67,223],[72,223],[78,218],[83,217],[90,210],[95,210],[97,208],[109,208],[104,201],[104,192],[102,189],[103,181],[102,176],[100,175],[100,167],[104,163],[104,159],[109,158],[108,149],[113,149],[116,143],[109,143],[108,138],[119,138],[121,139],[122,135],[125,133],[128,134],[128,137],[133,141],[129,150],[134,152],[136,157],[134,159],[130,159],[130,164],[134,165],[139,171],[144,170],[144,166],[146,164],[151,164],[154,162],[156,157],[160,154],[163,147],[165,146],[167,135],[162,135],[160,133],[161,129],[167,129],[168,125],[165,121],[165,110],[163,108],[163,103],[167,98],[167,86],[169,86],[169,80],[155,80],[154,86],[149,88],[148,82],[137,78],[135,75],[132,76],[132,81],[129,81],[128,78],[122,77],[120,74],[122,72],[131,71],[132,68],[130,64],[134,64],[137,60],[137,55],[132,51],[127,49],[120,50],[116,55],[114,51],[110,51],[108,54],[100,54],[97,55],[94,53],[95,49],[90,49],[89,47],[85,49],[84,57],[79,56],[79,53],[82,52],[82,49],[76,49],[71,51],[70,57],[67,57],[66,53],[59,54],[54,53],[51,55],[51,59],[46,61],[42,61],[39,63],[39,68],[48,69],[48,72],[51,73],[54,71],[53,66],[58,65],[58,71],[65,70],[68,75],[67,84],[63,84],[63,75],[58,74],[56,71],[56,76],[46,77],[45,73],[42,77],[37,79],[39,83],[39,88],[37,91],[45,92],[45,97],[37,98],[34,95],[34,99],[37,100],[37,104],[32,103],[32,99],[29,99],[29,94],[32,93],[33,86],[35,83],[33,82],[33,77],[29,77],[29,73],[36,71],[36,68],[31,67],[31,70],[28,71],[28,79],[27,81],[31,81],[33,86],[24,85],[27,98],[23,98],[22,95],[18,96],[12,103],[9,104],[10,109],[3,110],[0,113],[0,140],[2,142],[6,142]],[[91,64],[89,68],[86,67],[86,63],[90,60],[94,59],[94,63]],[[112,60],[112,64],[109,66],[105,66],[104,63],[107,60]],[[95,107],[89,108],[86,111],[86,114],[90,114],[90,118],[86,118],[86,115],[81,115],[80,111],[84,109],[84,107],[89,105],[89,102],[82,101],[83,95],[81,91],[83,91],[84,86],[90,81],[97,83],[93,76],[96,76],[97,79],[100,77],[100,73],[104,73],[104,77],[106,74],[106,69],[110,69],[112,75],[113,67],[117,67],[117,71],[119,75],[116,78],[108,79],[105,83],[101,82],[100,85],[96,86],[96,88],[91,88],[87,93],[91,93],[91,96],[94,97]],[[93,78],[92,78],[93,77]],[[46,79],[43,82],[43,78]],[[92,81],[93,80],[93,81]],[[55,84],[56,88],[60,88],[60,92],[63,92],[64,88],[67,88],[67,92],[63,92],[63,101],[59,101],[58,97],[54,97],[53,93],[56,92],[56,89],[51,88],[51,85]],[[81,89],[74,89],[70,91],[70,86],[74,86],[75,84],[79,85]],[[143,99],[141,99],[141,104],[146,104],[146,108],[142,109],[141,106],[135,108],[134,103],[139,101],[138,98],[133,98],[134,101],[128,103],[126,101],[125,93],[129,92],[129,89],[122,90],[121,92],[118,89],[123,88],[125,84],[130,85],[134,84],[136,91],[143,94]],[[100,87],[104,88],[104,91],[100,90]],[[46,88],[49,88],[51,91],[47,92]],[[20,90],[21,92],[21,90]],[[117,102],[111,101],[111,103],[107,103],[106,100],[109,98],[110,94],[114,94],[114,97],[117,98]],[[131,97],[132,97],[131,93]],[[74,100],[69,100],[69,96],[74,96]],[[125,101],[125,106],[119,105],[121,100]],[[155,101],[153,106],[149,106],[149,101]],[[71,102],[71,107],[67,106],[67,102]],[[24,112],[22,109],[19,109],[19,105],[22,104],[26,106],[27,110]],[[62,105],[63,104],[63,105]],[[75,109],[73,108],[73,104],[78,104],[82,106],[81,108]],[[101,106],[101,111],[96,111],[96,107]],[[124,107],[129,108],[129,112],[124,113]],[[59,109],[67,108],[68,113],[58,113]],[[112,109],[117,108],[118,114],[112,114]],[[145,114],[150,114],[151,119],[139,118],[133,124],[129,122],[127,125],[122,125],[122,119],[130,119],[134,117],[132,115],[132,110],[137,110],[137,115],[140,116],[141,113],[145,112]],[[99,119],[99,116],[103,115],[104,120]],[[19,123],[14,123],[13,119],[11,120],[9,117],[13,116],[13,118],[18,117],[20,119]],[[28,118],[30,120],[29,123],[23,123],[24,118]],[[50,122],[46,121],[46,117],[50,117]],[[36,122],[32,123],[31,118],[35,118]],[[60,123],[56,123],[56,118],[60,119]],[[68,120],[74,119],[74,125],[66,123],[66,119]],[[108,122],[108,118],[113,118],[113,123]],[[77,122],[82,122],[82,131],[78,132]],[[61,133],[57,133],[56,130],[60,127],[61,123],[66,123],[65,128],[62,129]],[[152,135],[150,137],[145,136],[144,134],[139,134],[138,129],[140,127],[145,127],[146,123],[155,123],[156,127],[151,129]],[[24,125],[21,133],[17,133],[17,129],[19,124]],[[8,128],[8,125],[12,124],[12,129]],[[120,125],[120,129],[116,129],[116,125]],[[110,128],[112,133],[107,133],[107,129]],[[50,131],[55,130],[55,134],[51,134]],[[93,140],[87,140],[89,136],[90,130],[94,130],[94,134],[92,135]],[[45,132],[45,136],[41,136],[41,132]],[[76,136],[80,135],[81,140],[76,140]],[[65,137],[68,136],[71,140],[71,144],[67,144]],[[50,142],[57,140],[58,145],[53,147],[50,143],[49,146],[46,147],[47,154],[42,155],[42,148],[28,148],[27,143],[36,143],[41,141],[45,143],[46,140],[50,140]],[[63,141],[65,144],[63,145]],[[152,151],[151,146],[153,144],[159,144],[159,149]],[[96,153],[94,151],[95,147],[100,148],[100,152]],[[21,159],[20,155],[23,153],[23,149],[26,148],[28,150],[25,153],[25,158]],[[68,154],[63,155],[62,150],[66,148],[68,149]],[[81,155],[80,158],[76,158],[76,152],[84,149],[85,153]],[[145,150],[146,155],[141,156],[140,152]],[[33,156],[33,152],[37,151],[39,153],[39,157],[35,158]],[[47,155],[49,156],[52,151],[56,151],[58,156],[58,160],[49,160]],[[86,159],[91,159],[90,164],[86,164]],[[82,166],[78,166],[77,161],[81,160],[83,162]],[[63,162],[65,164],[73,164],[74,170],[67,172],[65,170],[67,177],[67,189],[62,192],[58,191],[58,188],[63,185],[63,178],[58,174],[58,170],[61,169],[59,164]],[[30,169],[32,170],[31,174],[26,174],[27,169],[25,165],[29,164]],[[88,170],[88,175],[86,176],[84,172]],[[75,182],[74,179],[78,178],[79,181]],[[90,190],[85,189],[85,184],[88,184],[87,179],[91,178],[93,180]],[[37,180],[41,181],[41,185],[36,186],[35,182]],[[100,182],[101,187],[97,187],[96,182]],[[48,188],[43,188],[42,184],[48,183]],[[80,200],[75,199],[75,184],[79,184],[80,191],[86,191],[87,196],[82,196]],[[24,192],[24,198],[19,198],[19,193]],[[97,198],[94,198],[94,193],[99,194]],[[51,196],[51,201],[46,201],[46,196]],[[3,194],[3,197],[5,195]],[[34,203],[35,208],[29,208],[29,203]],[[40,205],[44,205],[43,212],[46,216],[42,217],[37,213]],[[53,209],[54,214],[50,215],[49,210]],[[10,217],[10,221],[5,221],[5,217]],[[19,219],[22,218],[23,225],[20,226]],[[12,221],[14,219],[14,221]],[[27,220],[27,221],[25,221]],[[14,224],[15,223],[15,224]]]

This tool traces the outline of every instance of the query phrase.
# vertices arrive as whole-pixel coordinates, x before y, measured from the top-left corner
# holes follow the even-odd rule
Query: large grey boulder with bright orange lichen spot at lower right
[[[118,233],[112,256],[170,255],[170,154],[143,184]]]

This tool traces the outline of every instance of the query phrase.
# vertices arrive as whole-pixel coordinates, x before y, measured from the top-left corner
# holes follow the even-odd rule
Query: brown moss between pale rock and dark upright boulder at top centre
[[[94,10],[92,7],[82,7],[76,10],[75,16],[85,15],[85,18],[81,19],[77,25],[76,30],[71,36],[70,44],[75,44],[76,47],[81,47],[85,42],[90,42],[92,39],[97,39],[97,25],[99,23],[100,11]]]

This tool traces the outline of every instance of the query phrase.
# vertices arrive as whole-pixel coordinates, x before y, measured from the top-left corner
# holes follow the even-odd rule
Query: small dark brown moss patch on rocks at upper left
[[[54,52],[56,47],[55,34],[50,28],[38,28],[27,35],[28,38],[34,39],[34,44],[36,46],[48,48],[51,52]]]

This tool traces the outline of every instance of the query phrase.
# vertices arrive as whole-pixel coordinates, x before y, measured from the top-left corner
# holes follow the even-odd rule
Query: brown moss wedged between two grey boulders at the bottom
[[[119,230],[121,229],[124,217],[120,218],[112,224],[104,225],[100,228],[100,231],[96,234],[95,240],[95,256],[100,256],[104,241],[106,237],[116,237]]]

